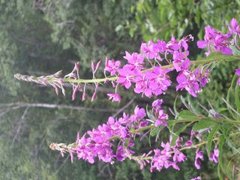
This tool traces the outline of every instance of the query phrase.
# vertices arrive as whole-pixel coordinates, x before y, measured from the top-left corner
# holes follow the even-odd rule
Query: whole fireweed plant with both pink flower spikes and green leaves
[[[81,99],[86,98],[86,86],[95,86],[91,100],[96,98],[99,85],[111,84],[114,93],[108,93],[108,98],[113,102],[121,101],[119,87],[148,98],[154,97],[152,105],[146,109],[136,106],[132,114],[123,113],[121,117],[109,117],[107,122],[99,125],[80,136],[72,144],[52,143],[52,150],[60,151],[62,155],[69,153],[71,161],[74,156],[93,164],[97,159],[105,163],[113,164],[116,161],[130,159],[136,161],[140,168],[149,167],[150,171],[174,168],[180,170],[179,165],[186,161],[187,151],[195,150],[195,167],[201,168],[201,162],[206,158],[217,164],[222,161],[222,150],[227,139],[240,134],[240,69],[236,69],[231,91],[235,90],[237,99],[236,108],[224,100],[231,110],[232,117],[226,117],[220,113],[212,113],[211,116],[194,114],[189,110],[175,112],[175,118],[170,119],[163,110],[164,104],[160,95],[164,95],[173,84],[169,76],[171,72],[177,72],[176,91],[187,91],[191,96],[197,97],[202,88],[209,82],[210,66],[217,62],[239,61],[239,37],[240,25],[236,19],[232,19],[228,26],[228,32],[222,32],[205,27],[204,40],[197,42],[201,49],[207,49],[205,60],[190,61],[189,45],[193,37],[188,35],[180,40],[171,38],[169,42],[158,40],[141,44],[140,52],[125,52],[123,61],[106,59],[104,77],[96,78],[96,72],[100,62],[91,64],[92,79],[81,79],[80,66],[75,64],[69,74],[61,77],[61,72],[49,76],[26,76],[16,74],[19,80],[35,82],[45,86],[52,86],[56,93],[61,90],[65,95],[65,87],[72,87],[72,100],[77,94]],[[229,98],[228,98],[229,99]],[[191,127],[191,131],[189,131]],[[134,151],[137,138],[143,136],[157,136],[166,129],[169,132],[167,141],[143,154]],[[181,135],[185,132],[184,137]],[[187,138],[186,138],[187,136]],[[196,177],[193,179],[201,179]]]

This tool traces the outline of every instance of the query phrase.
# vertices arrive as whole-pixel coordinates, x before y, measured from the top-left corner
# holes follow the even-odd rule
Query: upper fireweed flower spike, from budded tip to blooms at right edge
[[[240,49],[238,38],[240,36],[240,25],[236,19],[232,19],[229,25],[229,32],[226,34],[207,26],[205,28],[204,40],[197,42],[199,48],[207,48],[207,55],[211,52],[220,52],[225,55],[232,55],[232,46]],[[143,42],[139,52],[125,52],[123,60],[106,59],[104,67],[105,78],[97,79],[95,77],[100,67],[101,61],[91,64],[93,79],[81,79],[79,76],[79,64],[76,63],[71,73],[61,78],[57,77],[33,77],[17,74],[16,77],[24,81],[32,81],[42,85],[53,86],[55,91],[61,89],[64,93],[65,84],[72,86],[72,100],[76,99],[77,92],[82,93],[82,100],[86,99],[86,86],[93,84],[95,91],[92,100],[96,98],[96,92],[99,84],[111,82],[115,88],[115,93],[108,93],[109,99],[115,102],[121,100],[118,94],[118,87],[122,86],[129,89],[133,86],[136,94],[142,94],[146,97],[153,97],[165,94],[168,88],[173,84],[170,79],[170,73],[176,71],[177,86],[176,91],[186,90],[190,95],[196,97],[202,88],[206,86],[209,70],[203,65],[196,69],[192,68],[195,61],[189,59],[189,45],[193,41],[191,35],[183,37],[180,40],[171,38],[170,41],[163,40]],[[238,75],[238,70],[236,71]],[[108,76],[109,75],[109,76]],[[28,78],[26,78],[28,77]]]

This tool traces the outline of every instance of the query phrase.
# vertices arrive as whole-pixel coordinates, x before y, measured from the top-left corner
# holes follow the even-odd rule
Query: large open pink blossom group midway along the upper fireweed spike
[[[190,69],[188,42],[192,40],[189,35],[179,41],[172,37],[169,42],[158,40],[142,43],[140,53],[130,54],[126,51],[124,59],[127,62],[122,67],[119,60],[106,60],[105,72],[116,75],[118,85],[126,89],[134,85],[135,93],[152,97],[165,94],[172,84],[168,74],[175,70],[179,73],[177,90],[185,89],[196,97],[208,82],[208,73],[206,70]],[[161,63],[168,63],[169,66]]]

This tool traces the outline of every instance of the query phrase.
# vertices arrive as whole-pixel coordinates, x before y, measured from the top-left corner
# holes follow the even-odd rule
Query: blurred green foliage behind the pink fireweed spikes
[[[91,60],[119,58],[125,50],[138,50],[141,41],[168,40],[171,35],[180,38],[191,33],[197,40],[203,37],[205,25],[224,30],[224,25],[232,17],[239,20],[239,15],[239,0],[1,0],[1,179],[190,179],[198,175],[191,160],[180,172],[153,174],[139,170],[130,161],[114,166],[90,166],[80,161],[71,164],[68,157],[62,158],[48,145],[74,141],[78,131],[96,127],[127,104],[132,95],[116,105],[102,100],[103,92],[109,91],[102,89],[94,103],[83,103],[80,98],[71,102],[70,94],[57,97],[51,89],[19,83],[13,74],[46,75],[60,69],[68,73],[73,63],[80,61],[81,75],[88,76]],[[193,45],[191,56],[199,55],[201,52]],[[226,95],[234,68],[233,64],[215,67],[211,84],[199,98],[201,104],[214,104],[216,110],[221,107],[219,97]],[[37,108],[33,103],[84,108]],[[145,105],[148,101],[137,97],[128,109],[134,103]],[[97,111],[102,104],[103,112]],[[213,179],[214,168],[205,162],[201,173]]]

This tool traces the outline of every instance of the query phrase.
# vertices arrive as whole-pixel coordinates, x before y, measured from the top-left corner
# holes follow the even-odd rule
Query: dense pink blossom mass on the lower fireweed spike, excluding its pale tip
[[[131,147],[134,146],[135,134],[131,131],[149,124],[145,117],[145,110],[139,107],[135,108],[131,116],[124,114],[119,119],[109,117],[107,123],[87,131],[82,137],[78,135],[71,153],[89,163],[94,163],[96,157],[106,163],[123,161],[134,153]],[[115,152],[114,144],[117,144]]]

